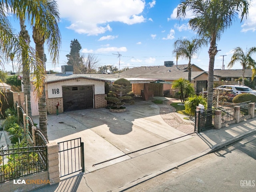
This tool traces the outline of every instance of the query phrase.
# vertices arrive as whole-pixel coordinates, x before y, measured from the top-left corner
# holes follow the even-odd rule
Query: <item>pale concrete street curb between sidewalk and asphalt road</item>
[[[242,139],[244,139],[244,138],[246,138],[248,136],[251,136],[251,135],[253,135],[255,133],[256,133],[256,129],[253,129],[253,130],[250,130],[250,131],[248,131],[246,133],[240,134],[239,136],[236,136],[236,137],[234,137],[234,138],[232,138],[232,139],[230,139],[228,141],[224,141],[224,142],[221,142],[220,144],[216,144],[216,145],[212,146],[211,148],[208,148],[207,150],[205,150],[205,151],[203,151],[201,153],[198,153],[196,155],[190,156],[190,157],[188,157],[188,158],[186,158],[186,159],[184,159],[184,160],[182,160],[180,162],[171,164],[170,166],[168,166],[168,167],[166,167],[166,168],[164,168],[164,169],[162,169],[162,170],[160,170],[158,172],[154,172],[154,173],[152,173],[152,174],[150,174],[148,176],[145,176],[143,178],[139,178],[136,181],[133,181],[133,182],[131,182],[129,184],[126,184],[125,186],[122,186],[120,188],[112,190],[112,192],[124,192],[124,191],[126,191],[126,190],[128,190],[128,189],[130,189],[130,188],[132,188],[132,187],[134,187],[136,185],[138,185],[138,184],[141,184],[141,183],[143,183],[143,182],[145,182],[147,180],[150,180],[150,179],[152,179],[152,178],[154,178],[156,176],[164,174],[165,172],[173,170],[173,169],[175,169],[175,168],[177,168],[179,166],[182,166],[182,165],[184,165],[184,164],[186,164],[188,162],[196,160],[197,158],[200,158],[200,157],[202,157],[202,156],[204,156],[206,154],[212,153],[212,152],[214,152],[216,150],[219,150],[219,149],[224,148],[224,147],[226,147],[228,145],[236,143],[239,140],[242,140]]]

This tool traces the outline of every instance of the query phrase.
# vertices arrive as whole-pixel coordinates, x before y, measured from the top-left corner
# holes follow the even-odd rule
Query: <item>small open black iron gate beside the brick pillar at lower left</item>
[[[84,172],[84,143],[76,138],[58,143],[60,156],[60,177]]]

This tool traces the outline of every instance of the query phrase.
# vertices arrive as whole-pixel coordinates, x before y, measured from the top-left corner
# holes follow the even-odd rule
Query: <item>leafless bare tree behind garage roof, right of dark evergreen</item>
[[[100,62],[97,56],[91,53],[82,54],[82,62],[86,68],[86,73],[97,73],[98,62]]]

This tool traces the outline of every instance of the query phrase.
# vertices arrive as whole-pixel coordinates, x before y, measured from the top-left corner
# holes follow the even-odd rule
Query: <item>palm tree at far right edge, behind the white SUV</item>
[[[231,61],[228,68],[232,68],[236,62],[242,65],[242,85],[244,85],[244,72],[246,68],[252,68],[252,80],[256,75],[256,62],[252,59],[252,54],[256,53],[256,47],[251,47],[248,51],[244,52],[241,47],[234,48]]]

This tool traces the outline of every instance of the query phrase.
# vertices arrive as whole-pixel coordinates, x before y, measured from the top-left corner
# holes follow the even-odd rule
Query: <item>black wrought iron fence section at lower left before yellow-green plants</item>
[[[0,182],[47,169],[46,146],[0,147]]]

